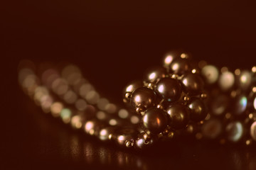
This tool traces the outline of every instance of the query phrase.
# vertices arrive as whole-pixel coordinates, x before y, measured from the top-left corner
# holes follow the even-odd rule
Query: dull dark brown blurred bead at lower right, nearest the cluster
[[[218,119],[210,119],[203,123],[202,134],[204,137],[216,139],[222,132],[222,124]]]

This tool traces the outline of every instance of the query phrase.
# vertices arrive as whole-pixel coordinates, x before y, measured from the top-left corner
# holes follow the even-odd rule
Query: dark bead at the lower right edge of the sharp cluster
[[[198,98],[193,99],[188,104],[188,108],[190,108],[189,110],[191,112],[191,115],[190,115],[191,120],[200,121],[206,118],[206,115],[207,115],[206,105],[205,103],[203,103],[202,100]]]

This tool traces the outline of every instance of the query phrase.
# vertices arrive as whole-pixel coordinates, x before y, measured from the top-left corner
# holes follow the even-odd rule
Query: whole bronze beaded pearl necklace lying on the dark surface
[[[256,141],[255,75],[256,67],[230,72],[169,52],[162,67],[124,88],[127,108],[119,108],[73,64],[36,69],[24,60],[18,68],[21,88],[43,112],[102,141],[136,149],[184,135],[251,145]]]

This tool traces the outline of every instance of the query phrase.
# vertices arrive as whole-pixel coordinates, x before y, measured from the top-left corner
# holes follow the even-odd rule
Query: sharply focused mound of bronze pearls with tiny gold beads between
[[[173,137],[191,125],[201,125],[208,112],[198,70],[187,54],[173,52],[166,55],[163,67],[149,70],[144,81],[134,81],[125,88],[124,103],[142,119],[145,141],[139,147],[150,145],[147,140],[151,138]]]

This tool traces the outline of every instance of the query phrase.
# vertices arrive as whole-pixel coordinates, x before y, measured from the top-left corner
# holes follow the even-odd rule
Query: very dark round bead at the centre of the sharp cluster
[[[164,78],[156,84],[156,91],[167,101],[177,101],[181,96],[181,84],[176,79]]]

